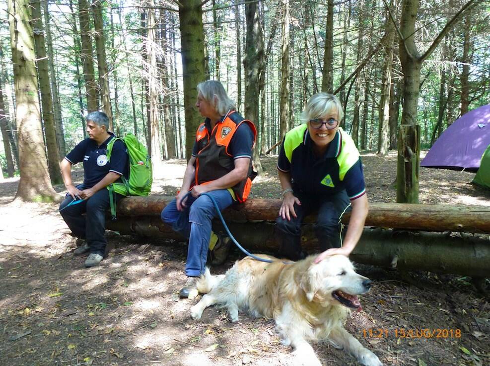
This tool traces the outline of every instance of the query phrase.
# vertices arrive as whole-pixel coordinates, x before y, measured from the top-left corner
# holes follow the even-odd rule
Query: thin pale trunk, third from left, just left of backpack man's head
[[[60,94],[58,92],[58,83],[56,81],[57,73],[55,72],[55,57],[53,52],[53,38],[51,37],[48,1],[42,1],[42,6],[44,12],[44,23],[45,23],[44,27],[46,30],[46,46],[48,47],[48,65],[49,65],[49,76],[51,81],[51,93],[53,96],[53,113],[55,118],[56,142],[58,143],[60,159],[63,159],[67,154],[67,148],[65,144],[63,116],[61,114]]]

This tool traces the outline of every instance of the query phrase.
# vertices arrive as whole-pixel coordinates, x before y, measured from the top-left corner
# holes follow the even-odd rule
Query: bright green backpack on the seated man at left
[[[129,156],[129,179],[121,176],[122,183],[112,183],[107,186],[111,201],[112,218],[116,218],[116,201],[114,192],[125,196],[147,196],[153,183],[151,159],[148,150],[138,141],[132,133],[123,138],[116,137],[107,144],[107,158],[111,160],[112,147],[116,140],[121,140],[126,145]]]

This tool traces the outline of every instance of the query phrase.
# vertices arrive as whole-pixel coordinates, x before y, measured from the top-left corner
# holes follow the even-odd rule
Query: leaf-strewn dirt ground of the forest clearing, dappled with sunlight
[[[279,198],[276,157],[263,164],[252,196]],[[363,164],[369,200],[395,202],[396,154],[364,154]],[[183,173],[183,161],[167,161],[154,193],[174,194]],[[490,205],[490,191],[471,184],[473,176],[420,168],[420,202]],[[84,258],[72,255],[75,240],[57,205],[12,202],[17,184],[0,182],[0,365],[291,363],[273,321],[241,314],[233,324],[215,308],[201,321],[190,318],[198,299],[177,295],[185,281],[185,243],[108,232],[107,258],[85,269]],[[211,272],[223,273],[241,257],[233,252]],[[490,365],[490,299],[470,278],[357,269],[374,286],[346,327],[384,365]],[[420,337],[421,329],[431,336]],[[357,365],[328,344],[314,348],[323,365]]]

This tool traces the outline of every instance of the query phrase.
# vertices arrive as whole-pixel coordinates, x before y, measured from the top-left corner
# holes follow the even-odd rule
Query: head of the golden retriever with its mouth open
[[[320,302],[325,306],[341,303],[352,309],[359,308],[356,295],[367,292],[371,280],[356,274],[354,266],[345,256],[330,256],[318,264],[313,263],[315,257],[304,260],[308,267],[300,279],[300,287],[308,301]]]

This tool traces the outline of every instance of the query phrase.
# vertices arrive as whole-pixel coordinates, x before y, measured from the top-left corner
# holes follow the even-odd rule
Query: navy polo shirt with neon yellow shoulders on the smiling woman
[[[323,157],[314,155],[313,144],[306,124],[284,136],[278,169],[290,173],[294,190],[328,196],[345,189],[351,200],[366,193],[359,151],[342,128],[337,130]]]

